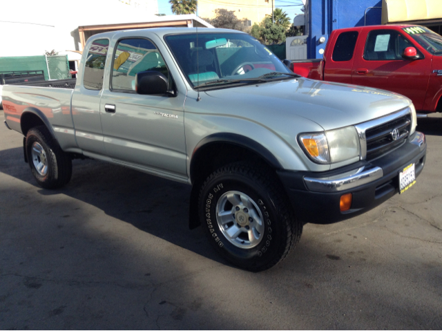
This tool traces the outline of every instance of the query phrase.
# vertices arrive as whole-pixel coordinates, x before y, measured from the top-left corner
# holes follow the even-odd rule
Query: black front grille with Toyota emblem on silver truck
[[[401,146],[410,135],[411,115],[403,115],[390,122],[374,126],[365,131],[365,139],[367,141],[367,160],[378,158],[387,151]],[[396,140],[393,138],[392,132],[398,130]]]

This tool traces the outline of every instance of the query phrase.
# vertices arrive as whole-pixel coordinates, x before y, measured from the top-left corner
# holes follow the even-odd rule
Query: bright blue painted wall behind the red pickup
[[[307,14],[307,57],[320,59],[330,32],[339,28],[352,28],[381,24],[382,0],[309,0]],[[364,18],[364,12],[366,15]],[[325,42],[320,43],[320,37]]]

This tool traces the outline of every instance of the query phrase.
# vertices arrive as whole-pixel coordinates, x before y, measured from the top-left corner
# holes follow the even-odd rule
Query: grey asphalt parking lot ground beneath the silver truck
[[[442,329],[442,117],[419,119],[416,185],[357,218],[304,227],[266,272],[189,230],[190,187],[74,160],[37,186],[0,111],[0,329]]]

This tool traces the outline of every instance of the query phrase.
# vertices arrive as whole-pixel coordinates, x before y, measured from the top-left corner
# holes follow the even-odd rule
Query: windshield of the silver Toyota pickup
[[[164,39],[193,87],[253,80],[269,73],[265,77],[271,79],[294,75],[268,48],[245,33],[203,32],[198,33],[198,41],[195,33]]]

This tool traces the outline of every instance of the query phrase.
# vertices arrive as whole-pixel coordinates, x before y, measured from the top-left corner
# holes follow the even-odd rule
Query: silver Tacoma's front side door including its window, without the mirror
[[[169,77],[169,89],[174,88],[169,69],[151,40],[120,40],[113,54],[111,82],[100,103],[106,155],[117,162],[184,180],[186,93],[137,94],[135,75],[145,70]]]

